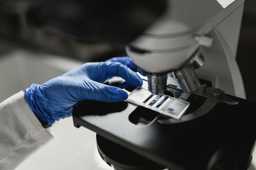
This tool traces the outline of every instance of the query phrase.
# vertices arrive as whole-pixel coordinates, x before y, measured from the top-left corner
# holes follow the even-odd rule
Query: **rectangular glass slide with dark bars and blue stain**
[[[134,105],[147,107],[177,120],[189,107],[189,102],[167,95],[152,95],[150,91],[140,87],[134,89],[126,101]]]

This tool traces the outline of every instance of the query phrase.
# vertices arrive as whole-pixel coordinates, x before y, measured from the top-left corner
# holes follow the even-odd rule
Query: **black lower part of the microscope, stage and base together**
[[[255,103],[225,97],[237,104],[210,102],[209,107],[198,106],[205,114],[198,116],[195,108],[188,109],[180,121],[170,122],[158,112],[127,102],[86,100],[74,107],[73,120],[75,127],[98,134],[101,157],[118,170],[148,166],[152,170],[248,169],[255,144]],[[201,101],[202,97],[194,99]]]

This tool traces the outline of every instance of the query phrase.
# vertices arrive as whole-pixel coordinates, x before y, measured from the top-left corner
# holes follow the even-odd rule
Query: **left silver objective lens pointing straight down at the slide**
[[[166,91],[167,75],[149,73],[148,90],[154,95],[161,95]]]

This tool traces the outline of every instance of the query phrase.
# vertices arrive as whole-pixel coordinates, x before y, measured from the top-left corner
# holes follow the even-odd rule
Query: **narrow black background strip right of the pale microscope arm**
[[[244,81],[246,97],[256,102],[256,1],[245,0],[244,15],[237,50],[237,64]]]

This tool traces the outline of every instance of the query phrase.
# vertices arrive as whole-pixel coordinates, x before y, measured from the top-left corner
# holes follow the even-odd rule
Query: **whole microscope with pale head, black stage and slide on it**
[[[168,0],[164,14],[126,46],[143,87],[127,87],[124,102],[74,106],[75,127],[97,133],[99,154],[109,166],[250,167],[255,104],[244,99],[236,63],[243,4]]]

